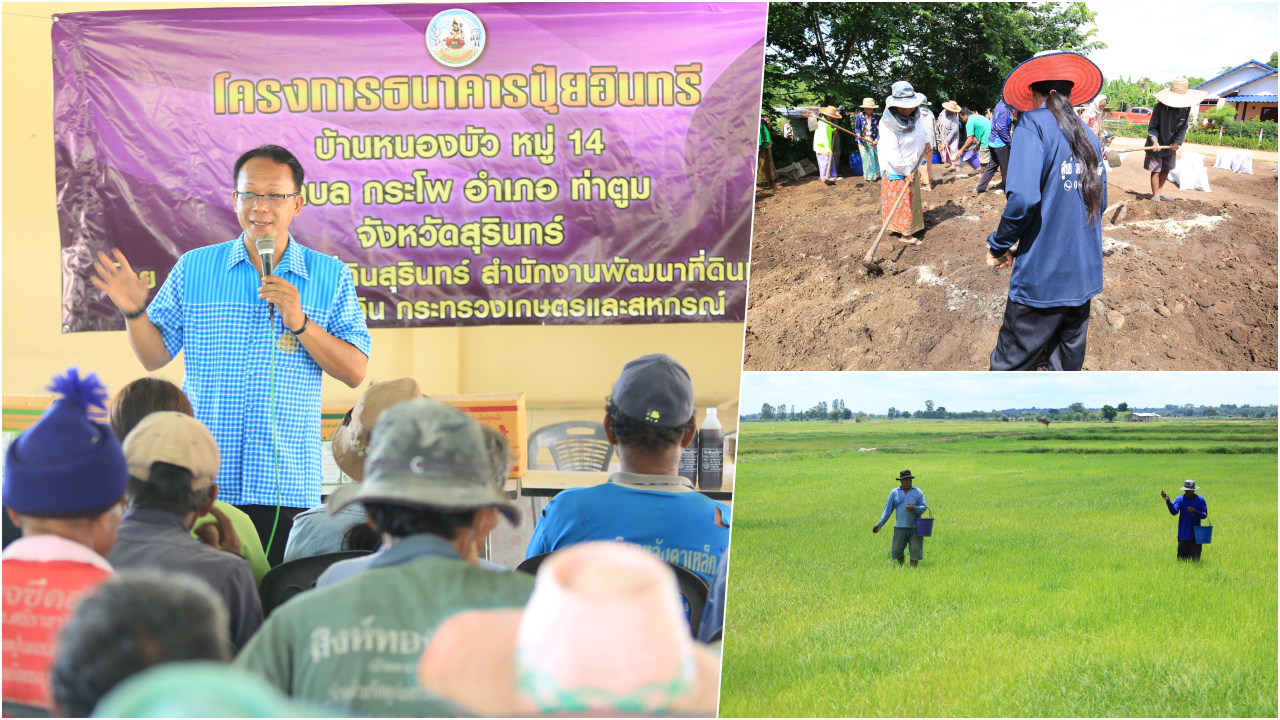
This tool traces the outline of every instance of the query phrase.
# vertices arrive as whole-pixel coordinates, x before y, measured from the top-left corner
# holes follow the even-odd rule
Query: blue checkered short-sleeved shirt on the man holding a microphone
[[[273,273],[297,286],[312,324],[369,355],[369,328],[346,265],[291,236]],[[232,505],[276,503],[269,372],[275,347],[279,502],[314,507],[320,503],[321,370],[301,342],[288,342],[293,338],[279,313],[268,320],[260,286],[242,234],[183,254],[147,316],[160,328],[170,357],[186,351],[182,388],[218,441],[218,498]]]

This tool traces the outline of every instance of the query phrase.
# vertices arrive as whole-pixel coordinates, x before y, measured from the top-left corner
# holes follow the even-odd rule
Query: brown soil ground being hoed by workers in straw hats
[[[1134,158],[1108,176],[1110,202],[1130,204],[1119,225],[1103,220],[1084,369],[1275,370],[1271,165],[1217,170],[1212,193],[1170,186],[1176,201],[1151,202]],[[1009,270],[984,263],[986,238],[1005,197],[975,186],[945,176],[922,191],[923,245],[887,234],[882,277],[861,270],[879,231],[878,183],[803,178],[758,195],[744,368],[986,370],[1009,292]]]

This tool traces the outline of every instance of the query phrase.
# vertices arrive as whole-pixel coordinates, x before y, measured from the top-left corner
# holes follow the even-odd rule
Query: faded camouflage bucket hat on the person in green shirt
[[[480,424],[429,397],[398,402],[378,418],[365,480],[339,488],[326,511],[333,515],[353,502],[457,512],[495,507],[520,524],[520,511],[494,479]]]

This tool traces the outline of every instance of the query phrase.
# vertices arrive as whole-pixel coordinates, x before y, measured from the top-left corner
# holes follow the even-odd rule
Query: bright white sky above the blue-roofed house
[[[1143,76],[1210,79],[1225,67],[1266,63],[1277,50],[1277,3],[1098,1],[1097,38],[1106,50],[1089,59],[1108,81]],[[1152,22],[1155,20],[1155,22]]]

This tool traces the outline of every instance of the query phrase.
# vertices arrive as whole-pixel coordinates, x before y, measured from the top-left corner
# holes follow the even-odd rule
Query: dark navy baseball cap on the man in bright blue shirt
[[[694,383],[671,355],[645,355],[622,366],[613,383],[613,404],[636,420],[677,428],[694,416]]]

